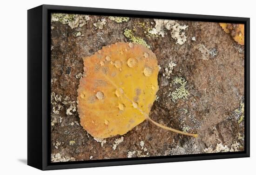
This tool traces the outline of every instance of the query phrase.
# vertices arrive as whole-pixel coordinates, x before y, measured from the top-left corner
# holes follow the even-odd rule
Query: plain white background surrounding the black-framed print
[[[255,173],[256,9],[253,0],[2,0],[0,2],[0,174],[27,175],[243,175]],[[177,12],[250,18],[251,157],[193,162],[40,171],[27,161],[27,9],[41,4]],[[39,77],[40,78],[40,77]],[[254,127],[253,127],[254,126]],[[253,163],[254,162],[254,163]],[[253,172],[253,173],[252,173]]]

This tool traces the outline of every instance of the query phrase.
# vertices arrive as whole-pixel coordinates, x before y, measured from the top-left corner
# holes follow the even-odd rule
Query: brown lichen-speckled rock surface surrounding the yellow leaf
[[[163,37],[152,32],[157,29],[156,23],[161,24],[161,21],[91,15],[53,16],[53,162],[244,149],[244,47],[218,23],[162,23]],[[175,25],[184,27],[175,33]],[[179,35],[182,42],[186,40],[183,44],[178,42]],[[81,127],[76,112],[76,90],[83,74],[82,58],[116,42],[147,45],[158,59],[159,91],[150,118],[175,129],[197,132],[199,137],[165,131],[148,121],[137,125],[123,138],[93,138]]]

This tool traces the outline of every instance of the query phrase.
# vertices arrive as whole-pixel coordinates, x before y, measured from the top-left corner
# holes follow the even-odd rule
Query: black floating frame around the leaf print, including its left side
[[[240,23],[245,26],[245,137],[244,151],[156,156],[75,162],[50,161],[50,14],[65,12],[106,16],[128,16],[156,19],[178,19],[207,22]],[[41,170],[73,169],[143,163],[195,161],[249,157],[249,33],[250,19],[226,16],[179,14],[41,5],[27,11],[27,164]]]

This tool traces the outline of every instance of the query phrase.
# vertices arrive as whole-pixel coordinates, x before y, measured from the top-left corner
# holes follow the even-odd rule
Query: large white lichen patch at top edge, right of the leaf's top
[[[187,41],[184,30],[187,25],[180,25],[175,20],[154,19],[155,27],[149,31],[150,34],[164,37],[165,30],[171,31],[171,37],[176,40],[176,44],[184,44]]]

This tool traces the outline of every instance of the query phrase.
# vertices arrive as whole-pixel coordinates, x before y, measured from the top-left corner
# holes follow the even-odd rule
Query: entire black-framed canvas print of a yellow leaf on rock
[[[249,18],[28,10],[27,163],[249,156]]]

